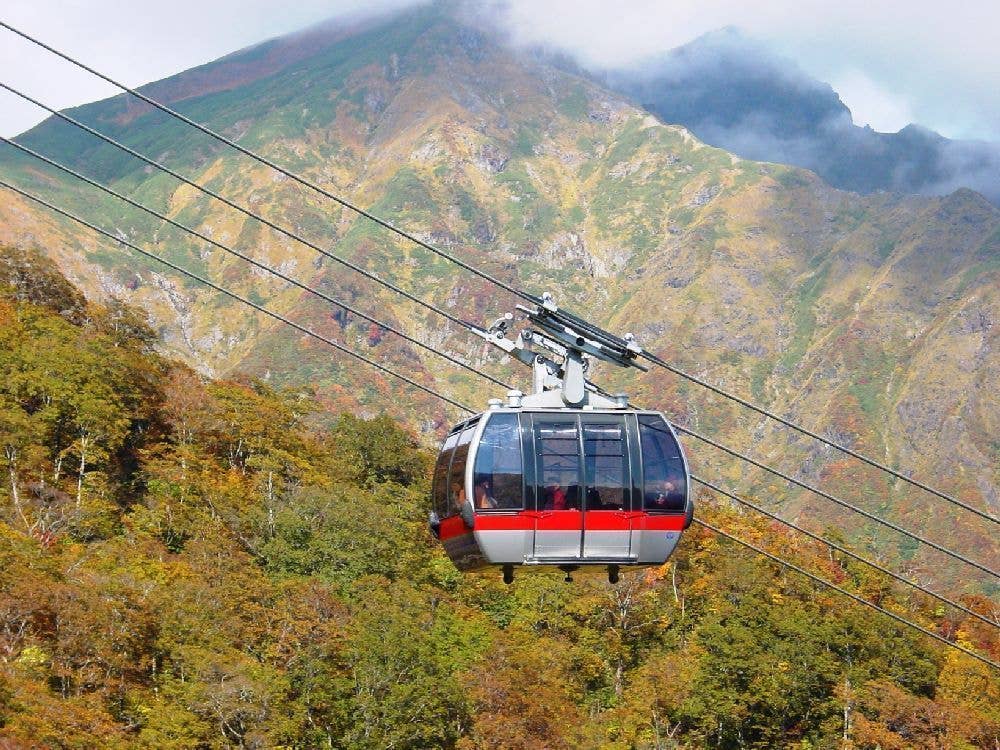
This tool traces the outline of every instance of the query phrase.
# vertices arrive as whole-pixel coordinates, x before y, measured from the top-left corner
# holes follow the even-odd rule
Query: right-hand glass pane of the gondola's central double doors
[[[623,422],[583,422],[587,510],[628,510],[628,450]]]

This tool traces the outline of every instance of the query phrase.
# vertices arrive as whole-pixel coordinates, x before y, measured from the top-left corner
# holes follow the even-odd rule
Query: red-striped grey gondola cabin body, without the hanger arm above
[[[631,409],[494,405],[444,441],[433,499],[436,533],[461,570],[659,565],[692,511],[674,431]]]

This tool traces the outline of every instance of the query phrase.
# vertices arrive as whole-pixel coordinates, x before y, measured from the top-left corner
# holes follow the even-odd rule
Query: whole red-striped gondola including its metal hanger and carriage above
[[[592,360],[645,368],[620,339],[559,310],[549,295],[518,306],[537,330],[516,341],[508,322],[475,332],[529,365],[517,390],[448,434],[434,469],[431,531],[460,570],[555,565],[567,573],[666,561],[692,519],[687,461],[663,415],[589,382]],[[542,351],[536,350],[539,347]]]

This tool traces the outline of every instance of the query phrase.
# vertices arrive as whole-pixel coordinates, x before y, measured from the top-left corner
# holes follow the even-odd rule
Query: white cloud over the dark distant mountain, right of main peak
[[[996,0],[621,0],[610,12],[606,0],[500,4],[518,40],[592,65],[627,65],[737,26],[822,81],[869,79],[871,100],[854,95],[871,113],[862,119],[889,122],[908,109],[945,135],[1000,140]]]

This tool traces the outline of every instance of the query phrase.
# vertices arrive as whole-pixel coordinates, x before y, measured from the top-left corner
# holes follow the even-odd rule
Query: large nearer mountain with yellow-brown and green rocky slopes
[[[519,287],[552,291],[674,364],[981,508],[1000,511],[1000,210],[971,190],[858,195],[741,159],[620,94],[472,28],[448,5],[324,27],[150,84],[189,117]],[[827,105],[817,98],[817,111]],[[488,322],[516,300],[124,97],[72,110],[409,291]],[[22,143],[526,387],[447,321],[49,120]],[[386,331],[6,148],[5,179],[473,405],[502,395]],[[37,245],[95,299],[144,308],[205,373],[308,385],[428,440],[455,410],[52,216],[0,197],[0,241]],[[596,377],[869,510],[983,560],[987,525],[663,370]],[[699,470],[954,589],[995,583],[694,441]]]

